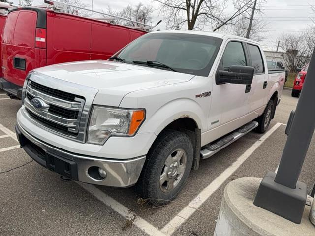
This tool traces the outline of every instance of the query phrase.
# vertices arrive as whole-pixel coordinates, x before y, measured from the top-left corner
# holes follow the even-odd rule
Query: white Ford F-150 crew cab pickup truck
[[[135,185],[142,198],[165,204],[200,159],[252,129],[266,131],[284,79],[284,70],[268,73],[252,40],[152,32],[108,61],[33,70],[16,133],[36,162],[63,177]]]

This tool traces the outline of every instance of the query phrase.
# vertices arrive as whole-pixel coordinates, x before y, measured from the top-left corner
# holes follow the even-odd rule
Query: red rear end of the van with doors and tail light
[[[47,65],[46,10],[18,8],[10,11],[1,49],[4,79],[12,88],[22,87],[30,70]]]

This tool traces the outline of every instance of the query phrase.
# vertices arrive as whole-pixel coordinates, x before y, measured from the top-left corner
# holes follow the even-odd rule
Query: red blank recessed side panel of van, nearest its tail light
[[[53,47],[70,52],[90,52],[91,22],[58,14],[52,24]]]

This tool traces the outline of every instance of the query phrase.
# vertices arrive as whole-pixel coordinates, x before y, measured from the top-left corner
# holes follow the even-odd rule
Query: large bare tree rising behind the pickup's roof
[[[226,0],[155,0],[167,19],[168,29],[187,24],[188,29],[203,29],[210,25],[213,31],[235,24],[233,21],[251,9],[254,0],[233,0],[234,11],[227,14]]]

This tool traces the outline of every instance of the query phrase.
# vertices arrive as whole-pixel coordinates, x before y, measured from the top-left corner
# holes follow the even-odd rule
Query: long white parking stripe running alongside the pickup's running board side
[[[225,169],[220,176],[213,180],[205,189],[203,189],[189,204],[182,209],[168,224],[166,224],[161,232],[165,235],[172,235],[188,218],[230,177],[246,159],[274,132],[283,125],[276,123],[267,131],[259,140],[257,140],[249,149],[247,149],[237,160]]]

